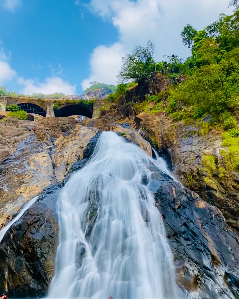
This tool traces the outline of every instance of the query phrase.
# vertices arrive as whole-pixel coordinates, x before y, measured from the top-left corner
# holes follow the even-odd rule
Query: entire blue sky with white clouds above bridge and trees
[[[90,81],[116,84],[121,57],[148,39],[157,60],[189,56],[183,26],[202,29],[230,13],[228,2],[0,0],[0,85],[28,94],[76,94]]]

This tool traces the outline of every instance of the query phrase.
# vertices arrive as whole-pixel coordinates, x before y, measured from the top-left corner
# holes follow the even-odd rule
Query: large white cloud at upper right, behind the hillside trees
[[[119,37],[115,44],[101,45],[93,50],[90,78],[99,82],[107,78],[110,80],[105,83],[115,83],[121,56],[136,45],[146,45],[149,39],[155,43],[157,60],[172,54],[186,58],[190,53],[181,41],[183,27],[190,23],[200,30],[217,19],[220,13],[229,12],[227,7],[228,0],[91,0],[90,11],[110,21]],[[118,51],[114,52],[115,47]],[[111,67],[112,59],[114,67]],[[103,65],[104,61],[107,64]],[[83,89],[89,86],[90,78],[81,83]]]

